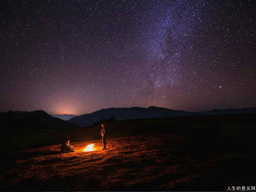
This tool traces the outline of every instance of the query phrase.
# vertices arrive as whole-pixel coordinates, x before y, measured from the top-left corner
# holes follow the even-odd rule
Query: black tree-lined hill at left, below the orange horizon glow
[[[71,122],[52,117],[43,110],[38,111],[7,111],[0,113],[1,129],[76,129],[78,126]]]

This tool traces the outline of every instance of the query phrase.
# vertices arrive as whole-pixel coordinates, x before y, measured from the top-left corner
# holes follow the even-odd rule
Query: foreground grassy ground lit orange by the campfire
[[[251,139],[145,134],[13,152],[1,160],[1,191],[226,191],[255,186]]]

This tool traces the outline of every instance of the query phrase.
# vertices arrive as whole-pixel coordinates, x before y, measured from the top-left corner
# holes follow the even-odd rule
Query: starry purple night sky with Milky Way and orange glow
[[[256,106],[254,1],[2,1],[0,111]]]

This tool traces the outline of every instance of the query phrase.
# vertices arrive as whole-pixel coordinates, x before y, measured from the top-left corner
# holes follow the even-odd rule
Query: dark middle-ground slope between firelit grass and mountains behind
[[[226,114],[207,116],[183,116],[170,118],[132,119],[122,121],[101,121],[93,126],[70,130],[12,129],[0,130],[4,151],[100,139],[101,123],[104,123],[108,138],[133,136],[147,133],[207,134],[223,138],[256,137],[256,114]],[[22,141],[22,142],[20,142]],[[0,152],[0,153],[1,153]]]

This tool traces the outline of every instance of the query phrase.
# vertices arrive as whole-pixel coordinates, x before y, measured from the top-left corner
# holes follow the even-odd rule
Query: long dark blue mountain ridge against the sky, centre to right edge
[[[180,110],[172,110],[162,107],[150,106],[148,108],[132,107],[132,108],[108,108],[95,111],[90,114],[76,116],[70,120],[79,127],[87,127],[93,125],[95,122],[102,119],[110,119],[112,116],[116,120],[126,119],[144,119],[144,118],[163,118],[163,117],[177,117],[188,115],[221,115],[221,114],[242,114],[242,113],[256,113],[256,107],[242,108],[242,109],[215,109],[212,111],[202,112],[187,112]]]

